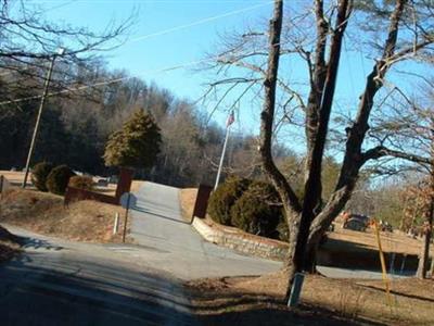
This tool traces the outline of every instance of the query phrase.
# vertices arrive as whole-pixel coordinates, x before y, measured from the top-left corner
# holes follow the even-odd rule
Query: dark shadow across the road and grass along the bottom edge
[[[355,325],[273,297],[195,290],[118,262],[24,253],[0,266],[1,325]],[[355,323],[357,322],[357,323]],[[381,325],[372,324],[369,325]]]

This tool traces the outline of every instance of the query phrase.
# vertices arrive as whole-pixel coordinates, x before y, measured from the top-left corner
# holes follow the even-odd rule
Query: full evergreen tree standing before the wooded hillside
[[[107,166],[152,167],[159,153],[162,137],[154,118],[136,111],[123,128],[108,137],[104,162]]]

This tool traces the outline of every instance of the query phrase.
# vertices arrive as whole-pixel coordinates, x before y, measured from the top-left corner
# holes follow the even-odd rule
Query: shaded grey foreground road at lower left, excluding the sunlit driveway
[[[179,279],[116,246],[9,227],[26,252],[0,266],[0,325],[195,325]]]

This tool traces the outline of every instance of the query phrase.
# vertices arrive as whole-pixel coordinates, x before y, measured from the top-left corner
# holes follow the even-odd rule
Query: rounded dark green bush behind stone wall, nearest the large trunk
[[[231,224],[250,234],[279,239],[283,221],[279,196],[267,183],[255,181],[231,209]],[[282,226],[281,226],[282,227]]]

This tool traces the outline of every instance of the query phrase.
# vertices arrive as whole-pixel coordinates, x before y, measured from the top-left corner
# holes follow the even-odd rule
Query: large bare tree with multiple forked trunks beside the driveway
[[[225,71],[226,78],[212,84],[212,87],[231,85],[226,88],[227,92],[241,84],[248,87],[253,83],[258,85],[257,80],[261,82],[258,86],[259,91],[264,90],[259,152],[264,171],[281,197],[290,226],[290,254],[285,264],[290,280],[294,272],[315,268],[320,239],[350,198],[361,168],[371,160],[393,153],[383,143],[366,143],[371,112],[373,109],[384,110],[383,105],[376,108],[374,103],[384,89],[386,75],[392,66],[413,59],[418,53],[424,54],[424,51],[430,51],[429,46],[434,41],[433,7],[429,1],[394,2],[392,5],[391,2],[379,4],[372,1],[373,4],[370,5],[370,2],[355,1],[357,7],[354,7],[352,0],[316,0],[312,1],[311,11],[293,14],[289,21],[284,21],[283,1],[276,0],[275,14],[269,25],[268,50],[264,50],[264,34],[251,30],[242,35],[238,42],[229,42],[231,48],[222,52],[216,62],[215,67]],[[305,9],[304,5],[301,7]],[[414,10],[417,15],[412,14]],[[314,12],[314,16],[310,12]],[[323,201],[321,175],[335,102],[337,72],[347,27],[353,18],[357,22],[357,17],[376,20],[379,26],[386,26],[386,33],[379,33],[381,29],[378,28],[373,32],[361,29],[360,38],[365,43],[370,42],[373,46],[372,53],[378,53],[379,58],[366,76],[355,116],[345,126],[340,175],[334,191]],[[314,37],[309,33],[311,28],[304,28],[304,24],[308,22],[316,26]],[[358,30],[359,34],[361,32]],[[253,38],[260,40],[252,42]],[[375,42],[378,39],[383,41]],[[298,55],[305,62],[308,83],[303,87],[307,92],[295,90],[295,84],[284,79],[279,61],[286,55]],[[264,57],[267,62],[259,60]],[[232,75],[228,73],[230,68]],[[247,74],[242,78],[238,74],[244,71]],[[285,105],[288,101],[296,104]],[[289,108],[292,110],[286,110]],[[279,171],[270,150],[276,137],[276,126],[281,121],[277,118],[277,114],[280,113],[286,121],[299,123],[299,118],[294,118],[294,109],[304,116],[302,126],[305,129],[306,166],[303,199],[296,196],[293,186]],[[286,296],[290,287],[291,281]]]

